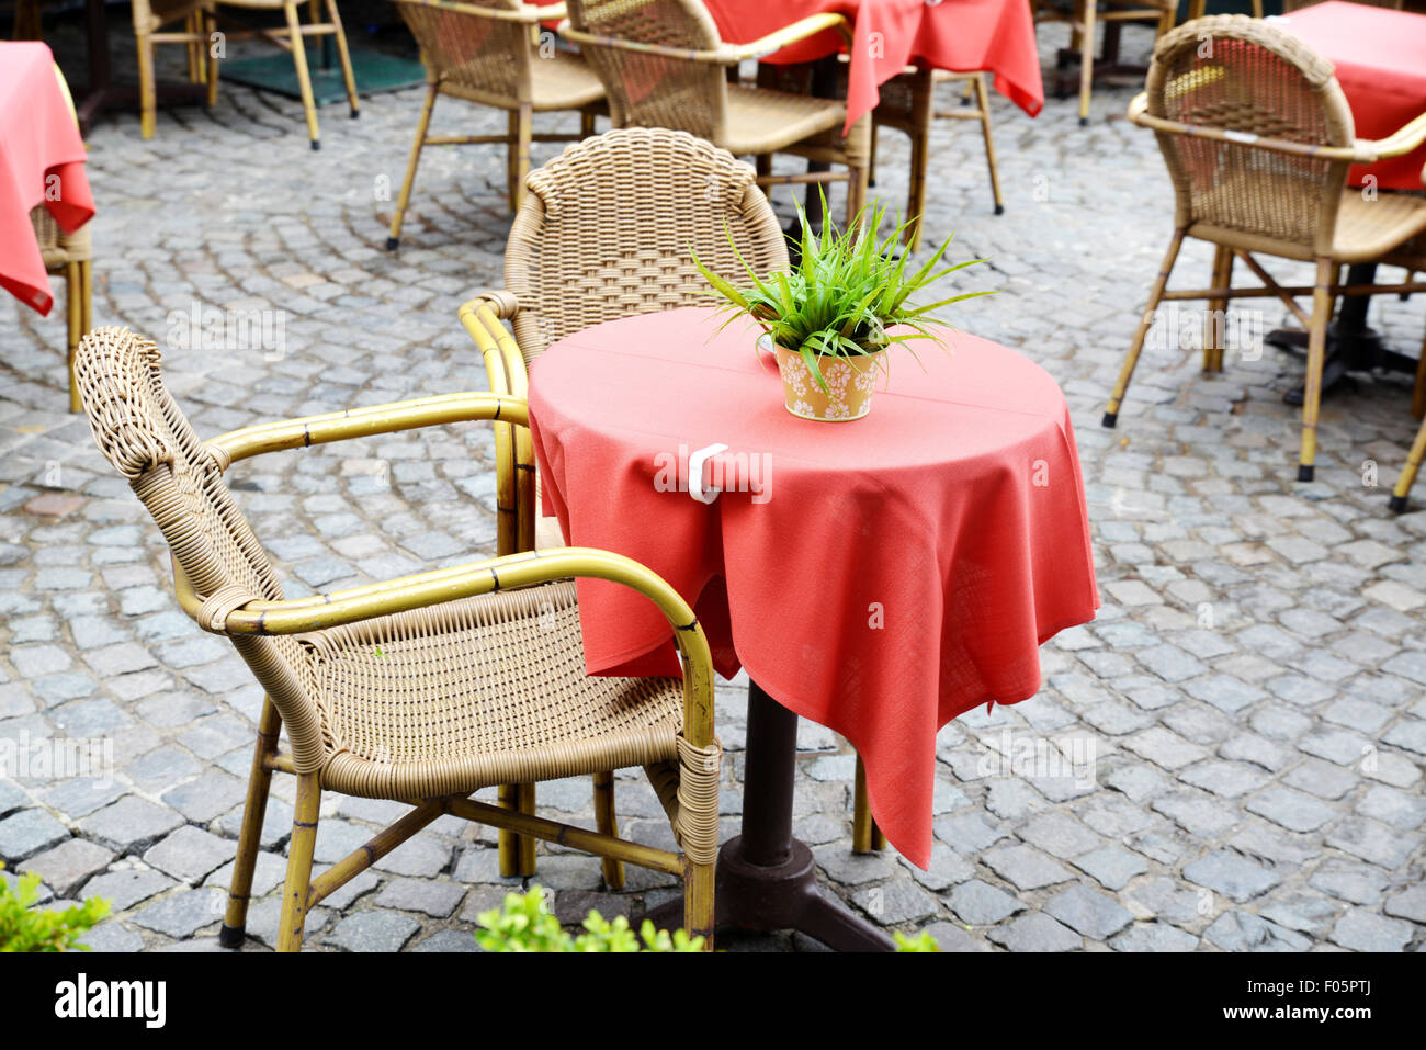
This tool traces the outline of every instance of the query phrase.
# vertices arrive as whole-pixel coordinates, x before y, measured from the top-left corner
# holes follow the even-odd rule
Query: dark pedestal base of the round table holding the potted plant
[[[797,716],[753,682],[747,690],[743,833],[717,859],[719,929],[799,930],[838,952],[891,952],[896,943],[817,886],[811,850],[793,837]],[[683,902],[649,913],[659,929],[683,922]]]

